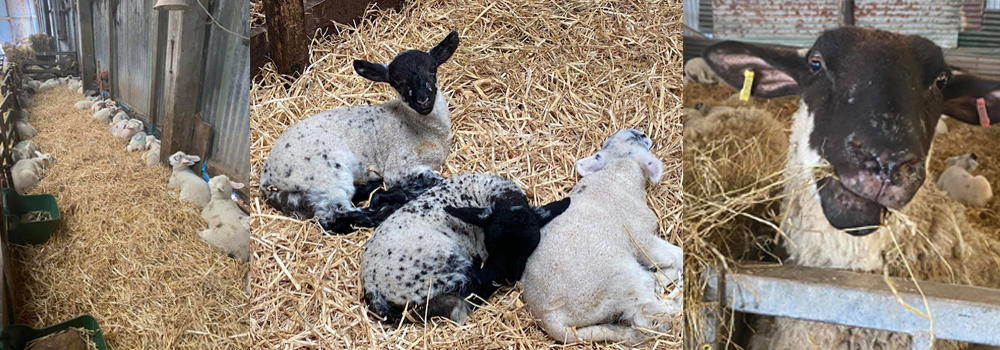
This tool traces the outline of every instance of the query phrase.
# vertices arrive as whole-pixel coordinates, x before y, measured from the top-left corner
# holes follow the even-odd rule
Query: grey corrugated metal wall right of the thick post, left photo
[[[197,4],[192,5],[195,7]],[[221,0],[212,7],[212,15],[226,28],[242,35],[250,32],[249,1]],[[250,45],[217,26],[209,31],[198,108],[215,131],[209,159],[249,179]]]

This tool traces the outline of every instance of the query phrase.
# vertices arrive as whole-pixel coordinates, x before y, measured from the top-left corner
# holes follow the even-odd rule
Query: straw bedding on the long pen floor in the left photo
[[[202,242],[199,210],[167,189],[106,124],[72,108],[65,86],[35,96],[34,139],[58,162],[33,193],[62,219],[42,246],[15,247],[16,321],[42,327],[94,315],[112,349],[246,349],[248,264]]]

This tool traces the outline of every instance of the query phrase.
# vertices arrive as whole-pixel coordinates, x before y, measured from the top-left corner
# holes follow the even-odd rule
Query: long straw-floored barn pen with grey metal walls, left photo
[[[4,85],[5,96],[29,77],[79,75],[81,90],[116,101],[161,140],[161,164],[146,166],[89,109],[74,109],[85,99],[76,90],[35,92],[26,108],[38,131],[31,141],[58,161],[30,194],[54,196],[61,218],[43,244],[11,246],[4,226],[0,327],[40,328],[90,314],[108,348],[248,347],[248,264],[199,239],[200,209],[167,188],[165,163],[184,151],[204,159],[192,170],[206,179],[249,178],[249,3],[169,3],[186,9],[156,10],[157,1],[147,0],[37,2],[39,34],[62,51],[36,57],[71,63],[37,67],[44,72],[30,67],[38,62],[5,66],[17,81]],[[20,108],[12,101],[3,104],[5,123],[6,112]],[[4,125],[6,189],[10,151],[22,137]]]

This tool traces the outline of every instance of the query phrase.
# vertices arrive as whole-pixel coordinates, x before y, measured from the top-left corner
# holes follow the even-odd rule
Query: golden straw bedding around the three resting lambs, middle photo
[[[357,28],[316,39],[312,65],[297,80],[264,68],[251,88],[251,187],[274,140],[326,109],[395,97],[358,77],[351,59],[388,62],[428,49],[449,30],[462,43],[439,70],[450,99],[454,144],[443,175],[489,172],[513,179],[535,203],[562,198],[574,164],[625,128],[644,130],[666,176],[649,202],[675,244],[681,213],[680,1],[414,1],[400,12],[370,13]],[[259,193],[257,193],[259,195]],[[464,326],[447,321],[382,326],[362,302],[360,256],[370,230],[324,235],[256,200],[251,269],[255,347],[548,348],[519,298],[501,289]],[[680,320],[656,340],[679,349]],[[579,347],[579,346],[577,346]],[[619,344],[589,347],[623,348]]]

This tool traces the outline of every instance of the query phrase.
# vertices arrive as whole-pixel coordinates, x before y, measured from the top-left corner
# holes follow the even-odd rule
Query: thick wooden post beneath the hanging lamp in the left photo
[[[160,162],[177,151],[189,152],[197,112],[205,47],[205,11],[169,11],[163,82],[163,137]]]

